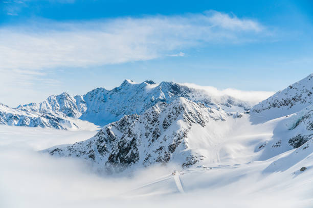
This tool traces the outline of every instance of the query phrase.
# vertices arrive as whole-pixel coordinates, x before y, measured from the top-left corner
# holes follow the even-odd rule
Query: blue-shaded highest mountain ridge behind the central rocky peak
[[[97,88],[83,96],[87,110],[81,119],[104,125],[116,121],[124,115],[141,115],[159,101],[170,103],[178,97],[185,97],[195,102],[202,102],[215,109],[231,109],[233,106],[249,109],[249,105],[230,96],[223,96],[217,101],[203,91],[172,82],[157,85],[153,81],[136,84],[125,80],[113,90]]]

